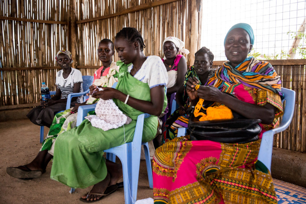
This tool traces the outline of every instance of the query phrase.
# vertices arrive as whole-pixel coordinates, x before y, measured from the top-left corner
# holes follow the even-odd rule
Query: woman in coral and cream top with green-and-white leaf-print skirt
[[[102,61],[103,66],[95,72],[94,82],[90,87],[91,89],[95,89],[96,85],[111,87],[114,82],[118,81],[117,76],[119,66],[116,65],[116,62],[112,62],[113,55],[114,43],[110,39],[101,40],[98,45],[98,57],[99,60]],[[79,106],[95,102],[91,99],[88,101],[84,103],[78,103],[72,109],[67,109],[64,112],[57,113],[54,117],[48,135],[44,139],[42,147],[40,148],[36,158],[29,164],[23,166],[8,167],[6,172],[10,176],[19,179],[39,177],[42,173],[46,172],[46,167],[53,157],[54,143],[57,136],[76,126],[77,108]]]

